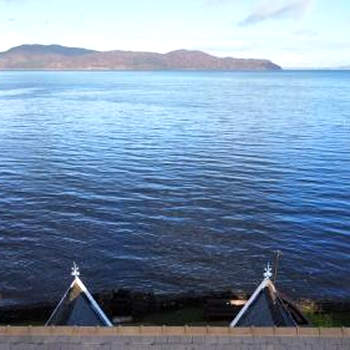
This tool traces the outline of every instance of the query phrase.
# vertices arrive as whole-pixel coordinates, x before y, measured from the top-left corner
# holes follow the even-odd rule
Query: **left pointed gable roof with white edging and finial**
[[[112,323],[79,278],[74,265],[74,280],[57,305],[46,326],[108,326]]]

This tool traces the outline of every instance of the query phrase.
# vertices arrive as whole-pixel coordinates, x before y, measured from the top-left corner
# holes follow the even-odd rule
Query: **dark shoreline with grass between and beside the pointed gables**
[[[232,291],[210,294],[156,295],[125,289],[94,295],[115,324],[226,325],[241,308],[247,294]],[[229,301],[235,301],[230,303]],[[0,307],[2,325],[43,325],[56,302]],[[350,300],[299,300],[298,306],[313,323],[350,326]]]

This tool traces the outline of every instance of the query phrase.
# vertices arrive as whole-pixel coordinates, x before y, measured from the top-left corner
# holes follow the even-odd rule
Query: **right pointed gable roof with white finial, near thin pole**
[[[296,308],[291,310],[283,298],[279,295],[275,285],[270,280],[271,269],[265,269],[264,280],[240,310],[230,327],[295,327],[296,319],[307,320],[298,313]]]

